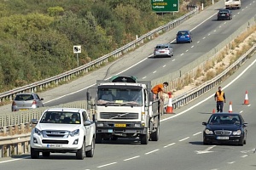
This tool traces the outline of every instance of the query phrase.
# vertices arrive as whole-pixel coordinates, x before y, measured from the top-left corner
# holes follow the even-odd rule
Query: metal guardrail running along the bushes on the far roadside
[[[99,59],[95,59],[86,65],[79,66],[78,68],[73,69],[72,71],[67,71],[57,75],[55,77],[49,77],[43,81],[34,82],[32,84],[15,88],[8,92],[4,92],[0,94],[0,102],[5,100],[12,100],[15,94],[23,93],[26,91],[30,92],[37,92],[37,90],[42,90],[43,88],[48,88],[52,83],[58,84],[59,82],[65,82],[66,80],[70,80],[72,77],[76,77],[80,73],[89,72],[93,68],[98,65],[102,65],[108,62],[110,58],[118,58],[119,56],[127,53],[128,51],[137,48],[147,40],[154,39],[157,35],[172,30],[175,26],[180,25],[183,21],[188,20],[192,15],[197,14],[198,10],[195,8],[194,10],[190,11],[188,14],[183,15],[182,17],[178,18],[177,20],[172,20],[171,22],[167,23],[164,26],[160,26],[159,28],[154,29],[153,31],[149,31],[147,34],[144,34],[142,37],[137,38],[133,42],[126,44],[125,46],[114,50],[110,54],[106,54]]]

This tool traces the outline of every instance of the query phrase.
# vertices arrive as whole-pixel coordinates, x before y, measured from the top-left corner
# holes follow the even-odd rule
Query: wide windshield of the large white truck
[[[97,105],[143,105],[142,88],[99,88]]]

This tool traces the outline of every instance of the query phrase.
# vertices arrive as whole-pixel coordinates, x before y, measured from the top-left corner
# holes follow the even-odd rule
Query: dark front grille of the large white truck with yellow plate
[[[138,119],[138,113],[109,113],[101,112],[102,119]]]

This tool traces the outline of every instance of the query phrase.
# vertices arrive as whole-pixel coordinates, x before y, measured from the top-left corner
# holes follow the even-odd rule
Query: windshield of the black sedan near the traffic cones
[[[219,124],[226,124],[226,125],[232,125],[232,124],[240,124],[241,120],[239,116],[237,115],[213,115],[209,119],[209,123],[212,125],[219,125]]]

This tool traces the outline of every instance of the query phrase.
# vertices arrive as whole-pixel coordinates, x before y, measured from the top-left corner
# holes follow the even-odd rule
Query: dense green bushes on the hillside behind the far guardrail
[[[73,45],[79,65],[122,47],[188,13],[179,2],[155,14],[149,0],[0,0],[0,93],[74,69]]]

